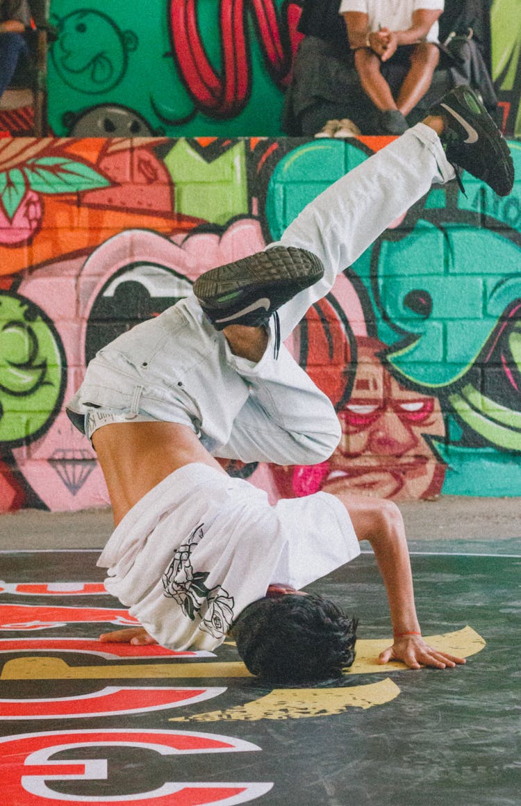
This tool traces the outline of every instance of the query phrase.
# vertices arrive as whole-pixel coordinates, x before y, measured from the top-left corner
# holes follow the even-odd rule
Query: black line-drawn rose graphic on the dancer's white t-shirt
[[[190,621],[199,617],[200,629],[205,633],[221,638],[234,621],[234,597],[220,585],[208,588],[205,582],[209,571],[194,571],[192,568],[192,551],[204,537],[203,526],[202,523],[196,526],[187,542],[173,556],[163,574],[163,596],[176,601]]]

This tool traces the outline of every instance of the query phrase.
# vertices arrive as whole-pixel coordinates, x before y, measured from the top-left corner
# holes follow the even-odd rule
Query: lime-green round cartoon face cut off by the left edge
[[[43,311],[0,293],[0,445],[41,433],[60,407],[63,380],[63,348]]]

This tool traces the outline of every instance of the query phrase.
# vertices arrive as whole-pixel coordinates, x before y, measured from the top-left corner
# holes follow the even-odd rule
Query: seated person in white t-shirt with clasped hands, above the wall
[[[407,114],[424,97],[440,61],[438,19],[444,0],[342,0],[349,47],[362,88],[379,110],[379,133],[401,135]],[[382,64],[394,60],[408,70],[394,98]]]

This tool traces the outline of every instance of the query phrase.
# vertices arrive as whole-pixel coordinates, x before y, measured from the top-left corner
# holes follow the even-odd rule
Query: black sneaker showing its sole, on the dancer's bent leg
[[[201,274],[193,293],[216,330],[228,325],[257,327],[323,274],[324,267],[312,252],[272,247]]]

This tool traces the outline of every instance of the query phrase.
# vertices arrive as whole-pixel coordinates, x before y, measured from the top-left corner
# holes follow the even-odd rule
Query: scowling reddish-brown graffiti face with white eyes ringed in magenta
[[[440,402],[399,384],[378,360],[382,347],[358,339],[353,393],[338,412],[341,441],[321,488],[395,499],[436,495],[445,466],[426,437],[445,432]]]

